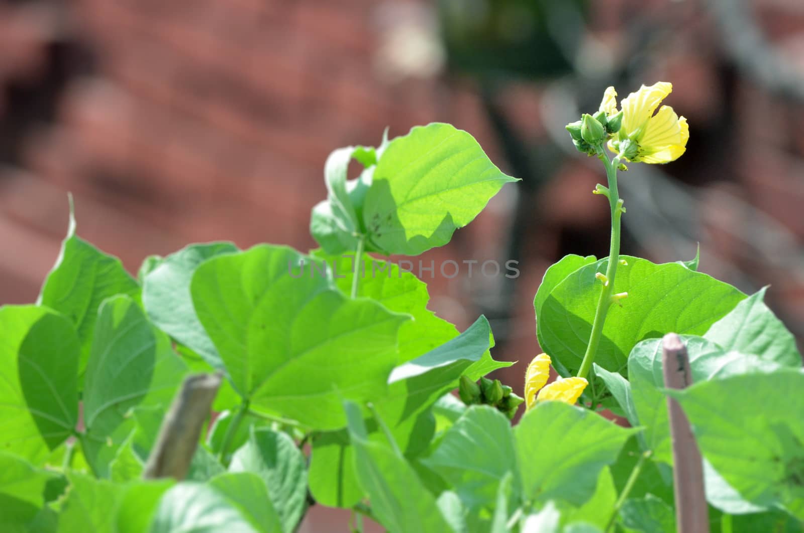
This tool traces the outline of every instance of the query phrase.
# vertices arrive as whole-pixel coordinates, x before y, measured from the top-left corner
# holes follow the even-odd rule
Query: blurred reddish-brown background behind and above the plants
[[[521,274],[422,278],[460,328],[490,318],[516,386],[544,270],[609,246],[590,194],[605,176],[564,124],[607,85],[660,80],[691,137],[677,162],[621,175],[622,252],[670,262],[700,242],[700,270],[771,284],[801,340],[800,0],[0,0],[0,304],[35,300],[68,191],[80,236],[133,273],[189,242],[308,250],[331,150],[451,122],[523,181],[422,260]]]

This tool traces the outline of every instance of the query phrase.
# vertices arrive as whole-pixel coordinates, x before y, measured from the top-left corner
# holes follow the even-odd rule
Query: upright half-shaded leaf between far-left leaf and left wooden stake
[[[105,439],[133,407],[168,407],[186,373],[170,340],[150,325],[134,300],[126,295],[106,300],[98,313],[84,385],[88,432]]]

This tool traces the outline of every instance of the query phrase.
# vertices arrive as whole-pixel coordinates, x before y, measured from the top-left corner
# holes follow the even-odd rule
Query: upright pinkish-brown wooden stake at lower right
[[[685,389],[692,384],[687,347],[675,333],[667,333],[662,339],[662,369],[664,386],[668,389]],[[708,533],[704,461],[679,403],[668,398],[667,409],[673,443],[676,527],[679,533]]]

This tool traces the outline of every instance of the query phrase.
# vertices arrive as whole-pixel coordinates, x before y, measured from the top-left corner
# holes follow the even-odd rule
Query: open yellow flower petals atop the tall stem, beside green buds
[[[626,160],[634,162],[670,163],[679,159],[687,150],[687,140],[690,138],[687,119],[679,118],[669,105],[662,105],[654,115],[659,103],[672,90],[671,83],[659,81],[650,87],[642,85],[636,93],[623,98],[622,125],[609,140],[609,150],[615,153],[622,151]],[[616,94],[613,87],[605,90],[601,109],[605,106],[606,114],[617,111],[613,102]]]

